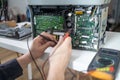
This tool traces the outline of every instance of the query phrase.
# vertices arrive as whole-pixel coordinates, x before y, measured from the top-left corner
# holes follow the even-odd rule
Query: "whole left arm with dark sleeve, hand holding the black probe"
[[[48,33],[43,32],[41,35],[54,40],[54,37]],[[26,43],[27,44],[27,43]],[[43,55],[46,48],[49,46],[54,46],[55,43],[44,39],[41,36],[37,36],[32,43],[30,48],[30,52],[34,59],[39,58]],[[23,56],[14,59],[12,61],[6,62],[0,65],[0,80],[14,80],[15,78],[22,75],[23,68],[27,67],[27,65],[32,62],[32,58],[30,53],[26,53]],[[3,78],[3,79],[2,79]]]

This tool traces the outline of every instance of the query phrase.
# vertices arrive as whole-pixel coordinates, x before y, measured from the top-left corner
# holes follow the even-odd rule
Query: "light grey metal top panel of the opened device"
[[[28,0],[29,5],[103,5],[111,0]]]

